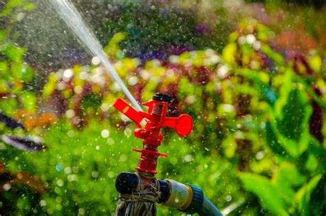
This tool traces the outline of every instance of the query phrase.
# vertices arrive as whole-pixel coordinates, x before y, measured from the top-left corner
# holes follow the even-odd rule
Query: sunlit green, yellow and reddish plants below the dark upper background
[[[104,50],[137,100],[145,102],[157,91],[164,92],[175,99],[169,116],[187,113],[194,119],[194,132],[188,138],[164,131],[160,151],[169,158],[159,160],[157,177],[201,186],[225,213],[236,204],[232,215],[324,214],[322,56],[295,54],[285,59],[270,46],[273,34],[247,19],[230,34],[221,54],[197,50],[169,56],[164,62],[142,63],[122,55],[120,43],[128,38],[124,32],[113,36]],[[141,145],[132,136],[133,123],[111,107],[118,96],[123,97],[119,87],[94,57],[91,65],[50,74],[42,95],[34,94],[26,85],[32,73],[26,76],[23,67],[12,67],[24,65],[22,48],[1,43],[6,47],[3,62],[9,65],[0,69],[3,92],[15,95],[2,96],[1,109],[24,116],[42,105],[58,118],[51,127],[34,122],[30,127],[30,133],[41,136],[49,147],[44,152],[21,152],[0,143],[6,170],[37,175],[46,187],[45,195],[23,185],[0,191],[1,211],[10,210],[12,215],[113,212],[118,199],[115,177],[133,171],[139,155],[131,148]],[[17,89],[14,82],[23,85]],[[2,133],[19,133],[1,127]],[[178,213],[162,207],[159,214]]]

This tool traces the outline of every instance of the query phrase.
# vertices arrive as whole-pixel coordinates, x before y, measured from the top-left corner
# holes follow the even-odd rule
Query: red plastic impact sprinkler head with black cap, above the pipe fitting
[[[171,96],[157,93],[153,96],[153,100],[144,102],[143,105],[149,107],[146,113],[135,110],[121,98],[118,98],[113,105],[137,124],[138,129],[135,129],[134,136],[144,140],[143,149],[133,149],[133,151],[142,153],[136,168],[138,171],[155,174],[157,158],[159,156],[167,157],[166,154],[157,151],[157,147],[160,146],[163,140],[163,135],[160,133],[162,127],[171,127],[179,136],[183,137],[188,136],[193,130],[193,120],[187,114],[182,114],[177,118],[166,117],[168,105],[171,101]]]

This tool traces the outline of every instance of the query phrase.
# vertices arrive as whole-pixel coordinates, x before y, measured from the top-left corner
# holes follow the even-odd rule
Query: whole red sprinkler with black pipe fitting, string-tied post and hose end
[[[153,100],[144,103],[149,107],[146,113],[133,109],[120,98],[113,105],[137,124],[134,135],[144,140],[142,149],[133,149],[142,153],[137,172],[122,172],[116,179],[119,193],[116,216],[156,215],[156,202],[187,214],[221,216],[218,208],[204,197],[202,188],[174,180],[157,180],[155,177],[157,158],[167,156],[157,151],[163,140],[161,128],[171,127],[179,136],[188,136],[193,130],[193,120],[186,114],[177,118],[166,117],[171,100],[171,96],[166,94],[155,94]]]

